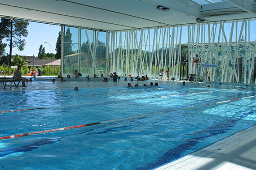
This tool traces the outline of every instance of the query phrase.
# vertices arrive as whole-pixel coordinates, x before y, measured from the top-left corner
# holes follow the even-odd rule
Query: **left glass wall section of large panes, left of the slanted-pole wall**
[[[82,76],[106,73],[106,32],[64,26],[62,74]]]

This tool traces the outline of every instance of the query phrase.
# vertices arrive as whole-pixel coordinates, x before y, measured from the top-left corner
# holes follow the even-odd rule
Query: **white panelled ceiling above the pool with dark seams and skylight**
[[[255,18],[254,1],[0,0],[0,16],[113,31]]]

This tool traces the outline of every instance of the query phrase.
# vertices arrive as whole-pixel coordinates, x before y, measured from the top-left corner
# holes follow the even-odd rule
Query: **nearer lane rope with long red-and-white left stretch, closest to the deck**
[[[147,114],[147,115],[133,116],[133,117],[123,118],[123,119],[106,120],[106,121],[97,122],[97,123],[89,123],[89,124],[83,124],[83,125],[77,125],[77,126],[62,127],[62,128],[45,130],[45,131],[40,131],[40,132],[31,132],[31,133],[23,133],[23,134],[18,134],[18,135],[4,136],[4,137],[0,137],[0,140],[3,140],[3,139],[14,139],[14,138],[22,137],[22,136],[29,136],[29,135],[35,135],[35,134],[47,133],[47,132],[55,132],[55,131],[62,131],[62,130],[67,130],[67,129],[75,129],[75,128],[80,128],[80,127],[93,126],[93,125],[102,124],[102,123],[110,123],[110,122],[122,121],[122,120],[127,120],[127,119],[136,119],[136,118],[140,118],[140,117],[146,117],[146,116],[151,116],[151,115],[158,115],[158,114],[167,113],[167,112],[171,112],[171,111],[191,109],[191,108],[201,107],[201,106],[209,106],[209,105],[213,105],[213,104],[219,104],[219,103],[230,102],[230,101],[246,99],[246,98],[253,98],[253,97],[256,97],[256,95],[255,96],[248,96],[248,97],[244,97],[244,98],[237,98],[237,99],[226,100],[226,101],[223,101],[223,102],[216,102],[216,103],[204,104],[204,105],[199,105],[199,106],[191,106],[191,107],[180,108],[180,109],[175,109],[175,110],[167,110],[167,111],[162,111],[162,112],[152,113],[152,114]]]

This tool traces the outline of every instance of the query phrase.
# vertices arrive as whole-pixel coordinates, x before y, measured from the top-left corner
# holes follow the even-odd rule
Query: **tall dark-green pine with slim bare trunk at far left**
[[[29,25],[28,21],[23,20],[13,20],[13,19],[6,19],[1,18],[0,23],[0,37],[6,38],[9,43],[10,52],[9,52],[9,64],[11,65],[12,59],[12,50],[14,47],[17,47],[19,51],[22,51],[25,46],[25,39],[28,34],[26,30],[27,26]]]

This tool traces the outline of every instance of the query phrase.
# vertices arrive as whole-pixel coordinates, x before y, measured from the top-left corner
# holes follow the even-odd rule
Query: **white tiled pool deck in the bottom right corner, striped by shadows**
[[[256,125],[154,170],[256,170]]]

